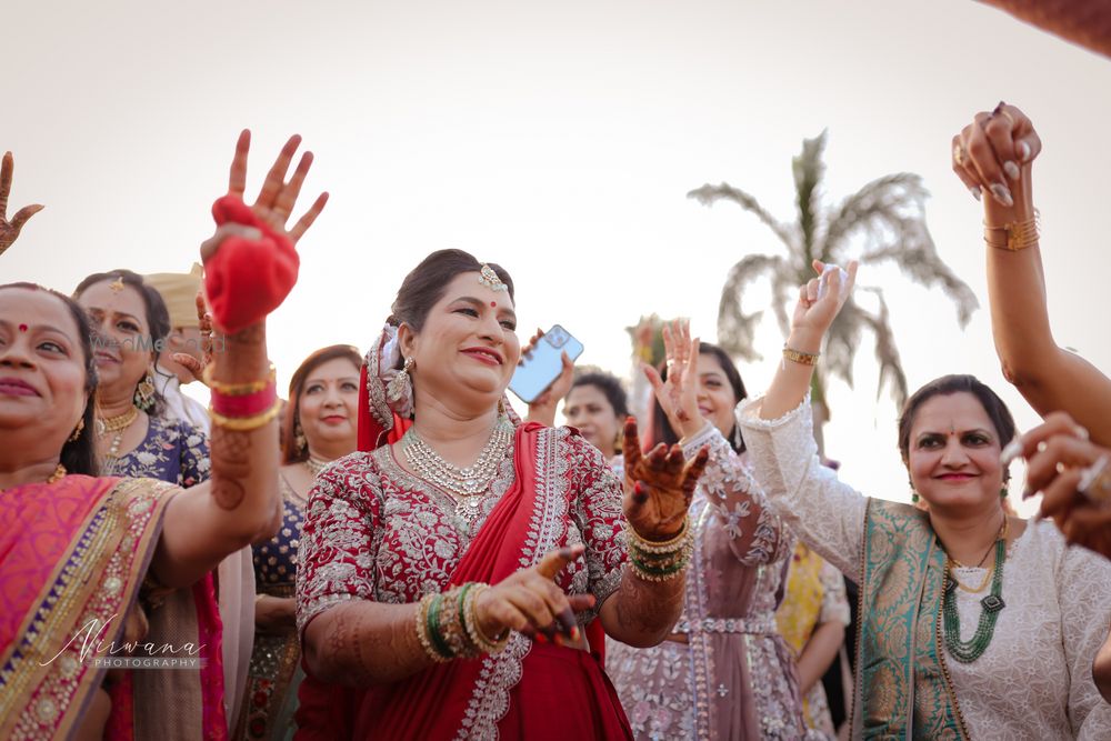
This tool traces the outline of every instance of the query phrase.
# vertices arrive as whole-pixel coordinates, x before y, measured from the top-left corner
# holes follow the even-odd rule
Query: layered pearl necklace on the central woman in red
[[[513,427],[499,418],[478,460],[467,467],[449,463],[424,442],[416,428],[401,439],[401,450],[412,470],[424,481],[447,491],[456,500],[456,514],[472,524],[479,503],[493,483],[513,440]]]

